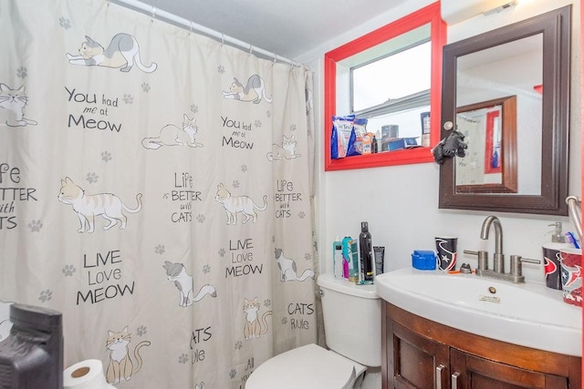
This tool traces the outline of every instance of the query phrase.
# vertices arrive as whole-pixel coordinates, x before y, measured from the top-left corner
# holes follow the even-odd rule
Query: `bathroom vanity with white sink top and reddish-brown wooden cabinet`
[[[383,389],[581,387],[581,309],[561,291],[412,268],[375,287]]]

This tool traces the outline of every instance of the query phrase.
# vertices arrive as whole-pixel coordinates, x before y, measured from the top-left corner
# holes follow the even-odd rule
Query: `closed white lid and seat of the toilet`
[[[362,369],[360,369],[360,367]],[[245,389],[349,389],[364,366],[317,344],[281,353],[255,369]]]

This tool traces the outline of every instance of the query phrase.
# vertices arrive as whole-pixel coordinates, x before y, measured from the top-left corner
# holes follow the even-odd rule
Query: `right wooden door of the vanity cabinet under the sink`
[[[562,389],[568,378],[543,374],[497,363],[452,348],[450,351],[453,389]]]

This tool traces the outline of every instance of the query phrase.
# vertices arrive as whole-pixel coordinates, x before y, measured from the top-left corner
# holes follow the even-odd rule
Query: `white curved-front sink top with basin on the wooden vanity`
[[[582,312],[545,284],[408,268],[375,278],[380,297],[467,333],[554,353],[582,355]]]

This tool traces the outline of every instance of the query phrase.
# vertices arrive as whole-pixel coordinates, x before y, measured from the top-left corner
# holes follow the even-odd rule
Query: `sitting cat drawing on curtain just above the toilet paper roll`
[[[134,367],[134,363],[132,363],[130,358],[129,345],[131,339],[128,331],[128,326],[125,326],[118,333],[113,331],[108,332],[106,348],[110,350],[110,363],[108,364],[106,377],[110,384],[121,384],[130,381],[131,376],[138,373],[142,367],[141,347],[150,346],[151,344],[149,341],[142,341],[136,344],[136,347],[134,347],[134,357],[138,364]]]

